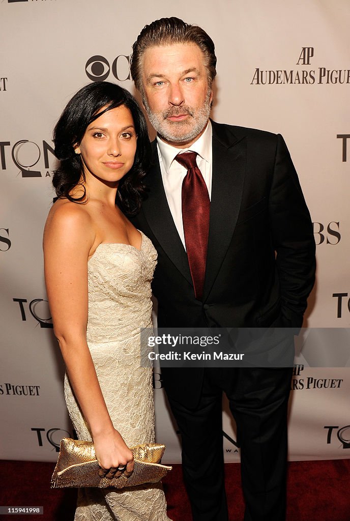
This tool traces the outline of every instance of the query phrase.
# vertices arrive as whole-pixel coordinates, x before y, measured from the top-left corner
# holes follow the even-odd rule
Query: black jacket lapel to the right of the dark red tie
[[[246,168],[246,140],[212,121],[212,185],[203,300],[208,296],[230,245],[240,211]]]

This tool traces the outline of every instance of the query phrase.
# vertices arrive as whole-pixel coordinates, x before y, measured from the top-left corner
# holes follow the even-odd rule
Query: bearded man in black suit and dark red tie
[[[158,326],[299,328],[315,275],[309,212],[280,135],[209,120],[215,67],[209,36],[178,18],[152,22],[133,46],[131,75],[157,131],[136,226],[158,251]],[[285,519],[291,368],[162,373],[194,521],[228,519],[222,391],[241,445],[244,519]]]

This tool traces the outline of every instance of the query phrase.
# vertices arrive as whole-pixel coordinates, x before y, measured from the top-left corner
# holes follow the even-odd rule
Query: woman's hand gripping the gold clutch
[[[99,475],[106,478],[129,477],[134,469],[134,457],[120,433],[113,428],[94,437]],[[123,468],[122,468],[123,467]]]

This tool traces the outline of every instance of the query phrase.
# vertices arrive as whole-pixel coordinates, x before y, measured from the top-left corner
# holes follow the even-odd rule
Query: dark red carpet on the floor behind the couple
[[[74,489],[50,489],[52,463],[0,461],[0,505],[44,506],[44,515],[0,515],[0,521],[72,521]],[[242,521],[240,465],[225,465],[230,521]],[[168,515],[191,521],[181,465],[163,480]],[[350,460],[292,462],[289,464],[286,521],[350,521]]]

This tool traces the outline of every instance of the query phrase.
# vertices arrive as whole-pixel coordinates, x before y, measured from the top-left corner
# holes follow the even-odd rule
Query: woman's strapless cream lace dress
[[[152,369],[140,367],[140,328],[152,327],[156,263],[157,253],[142,234],[141,250],[100,244],[88,264],[88,345],[109,415],[130,447],[154,442]],[[65,399],[78,438],[91,440],[67,375]],[[74,521],[111,520],[170,521],[160,483],[78,489]]]

